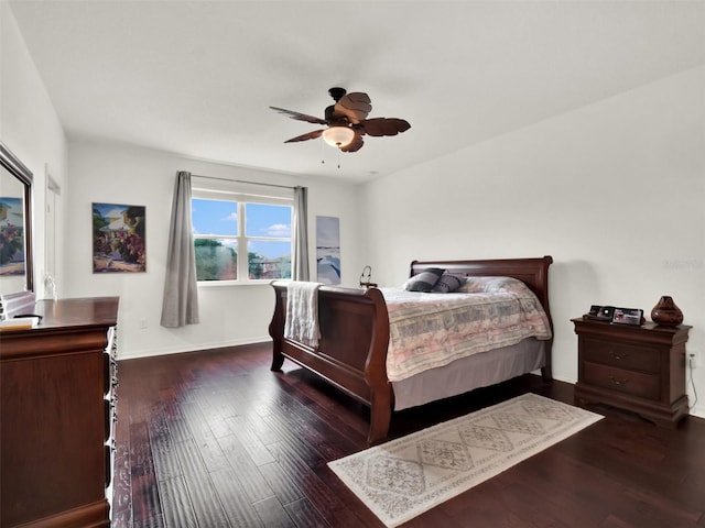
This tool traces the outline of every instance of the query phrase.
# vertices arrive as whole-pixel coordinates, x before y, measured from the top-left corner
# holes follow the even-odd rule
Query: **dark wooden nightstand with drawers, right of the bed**
[[[673,427],[688,413],[685,343],[691,327],[573,319],[578,336],[576,399],[607,404]]]

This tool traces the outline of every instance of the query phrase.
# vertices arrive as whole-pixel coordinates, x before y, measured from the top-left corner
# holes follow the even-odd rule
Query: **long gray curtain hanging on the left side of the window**
[[[176,174],[172,202],[162,327],[178,328],[199,322],[195,253],[191,221],[191,173],[180,172]]]

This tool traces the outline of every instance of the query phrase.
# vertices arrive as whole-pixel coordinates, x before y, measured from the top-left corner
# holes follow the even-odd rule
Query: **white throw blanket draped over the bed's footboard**
[[[284,338],[308,346],[318,346],[319,283],[292,280],[286,286],[286,321]]]

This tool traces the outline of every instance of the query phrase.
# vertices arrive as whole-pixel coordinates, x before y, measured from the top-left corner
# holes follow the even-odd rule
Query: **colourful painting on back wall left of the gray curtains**
[[[93,205],[93,273],[147,271],[144,207]]]

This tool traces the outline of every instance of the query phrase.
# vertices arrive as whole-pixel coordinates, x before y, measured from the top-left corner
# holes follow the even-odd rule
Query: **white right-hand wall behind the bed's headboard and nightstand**
[[[643,86],[364,188],[362,253],[382,284],[413,258],[550,254],[556,378],[577,378],[571,318],[671,295],[705,415],[705,67]],[[693,389],[688,387],[691,402]]]

